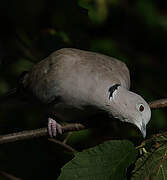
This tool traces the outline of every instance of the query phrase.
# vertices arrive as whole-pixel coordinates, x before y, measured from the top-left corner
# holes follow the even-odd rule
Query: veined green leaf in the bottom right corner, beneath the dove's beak
[[[155,179],[167,177],[167,137],[155,136],[156,143],[150,152],[145,153],[136,162],[132,180]]]

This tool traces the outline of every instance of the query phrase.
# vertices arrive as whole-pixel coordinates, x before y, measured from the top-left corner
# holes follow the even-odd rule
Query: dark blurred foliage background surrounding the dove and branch
[[[0,95],[16,87],[20,73],[51,52],[73,47],[124,61],[131,72],[132,91],[147,101],[166,97],[167,7],[163,2],[1,0]],[[166,130],[166,115],[165,109],[152,111],[147,137]],[[19,98],[0,105],[1,134],[46,125],[43,110],[36,105]],[[92,133],[74,133],[69,144],[82,150],[102,141],[97,134],[104,132]],[[139,131],[132,127],[117,128],[116,137],[141,142]],[[25,140],[0,145],[0,171],[23,179],[56,179],[61,166],[72,157],[47,137]]]

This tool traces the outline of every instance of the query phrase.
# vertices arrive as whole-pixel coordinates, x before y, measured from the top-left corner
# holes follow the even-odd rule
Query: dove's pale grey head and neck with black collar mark
[[[146,125],[151,118],[151,110],[147,102],[138,94],[125,89],[119,84],[108,90],[109,113],[114,118],[137,126],[143,137],[146,136]]]

